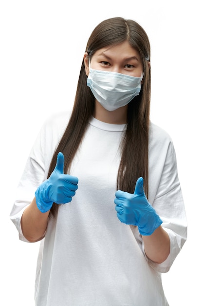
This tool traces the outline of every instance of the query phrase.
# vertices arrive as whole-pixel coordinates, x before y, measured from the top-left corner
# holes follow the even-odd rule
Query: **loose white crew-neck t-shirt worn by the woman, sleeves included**
[[[69,120],[56,114],[42,127],[19,186],[11,219],[27,241],[20,218],[38,185],[47,178],[55,148]],[[36,306],[167,306],[161,273],[169,270],[186,240],[185,208],[172,141],[151,123],[148,200],[163,220],[171,251],[151,262],[138,228],[121,223],[115,211],[119,145],[126,125],[92,118],[74,158],[71,175],[78,190],[60,205],[41,240],[36,274]]]

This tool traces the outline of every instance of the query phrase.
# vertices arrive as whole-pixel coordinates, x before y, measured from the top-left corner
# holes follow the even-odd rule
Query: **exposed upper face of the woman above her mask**
[[[86,75],[89,75],[88,53],[84,55],[84,63]],[[92,56],[91,68],[134,77],[141,77],[143,72],[139,52],[128,41],[97,50]]]

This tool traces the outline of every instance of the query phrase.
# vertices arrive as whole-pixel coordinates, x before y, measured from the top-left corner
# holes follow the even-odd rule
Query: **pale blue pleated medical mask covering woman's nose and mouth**
[[[107,110],[115,110],[127,105],[141,89],[140,78],[122,73],[94,70],[90,68],[87,86],[91,88],[95,99]]]

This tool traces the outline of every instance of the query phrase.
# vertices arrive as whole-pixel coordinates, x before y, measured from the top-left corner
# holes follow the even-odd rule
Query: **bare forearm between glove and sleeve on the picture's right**
[[[159,226],[150,236],[142,236],[145,254],[156,263],[164,262],[170,254],[170,239],[162,226]]]

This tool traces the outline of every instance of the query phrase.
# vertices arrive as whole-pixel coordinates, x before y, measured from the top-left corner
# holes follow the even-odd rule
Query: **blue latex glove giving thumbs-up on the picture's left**
[[[38,209],[45,213],[51,209],[53,203],[65,204],[71,202],[77,190],[78,178],[63,173],[64,155],[59,152],[55,170],[35,192]]]

